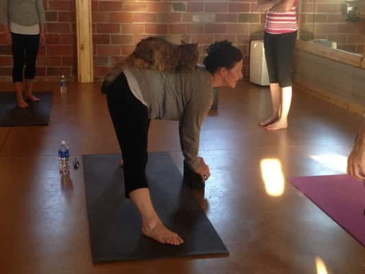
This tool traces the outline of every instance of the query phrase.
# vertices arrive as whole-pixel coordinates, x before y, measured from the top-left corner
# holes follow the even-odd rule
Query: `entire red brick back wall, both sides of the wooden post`
[[[44,0],[47,45],[37,60],[38,80],[77,75],[75,0]],[[248,77],[250,39],[260,39],[264,15],[252,12],[255,0],[243,1],[92,1],[94,75],[101,79],[142,38],[164,36],[198,42],[200,60],[215,40],[228,39],[244,53]],[[0,29],[0,78],[10,80],[12,58]]]

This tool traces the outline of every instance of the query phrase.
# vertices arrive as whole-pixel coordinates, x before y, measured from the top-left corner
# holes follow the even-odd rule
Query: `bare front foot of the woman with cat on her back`
[[[181,245],[184,242],[178,234],[167,229],[161,221],[155,225],[142,225],[142,233],[162,244]]]

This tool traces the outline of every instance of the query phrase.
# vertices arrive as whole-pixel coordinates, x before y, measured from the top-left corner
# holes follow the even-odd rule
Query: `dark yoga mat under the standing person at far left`
[[[52,92],[34,92],[41,100],[27,101],[30,108],[16,108],[14,92],[0,92],[0,127],[48,125],[52,106]]]

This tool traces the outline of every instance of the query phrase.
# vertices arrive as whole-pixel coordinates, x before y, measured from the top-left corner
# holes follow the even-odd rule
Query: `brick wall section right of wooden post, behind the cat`
[[[93,1],[95,77],[132,52],[148,36],[198,42],[200,61],[215,40],[228,39],[244,53],[248,76],[250,39],[262,38],[263,14],[256,1]]]

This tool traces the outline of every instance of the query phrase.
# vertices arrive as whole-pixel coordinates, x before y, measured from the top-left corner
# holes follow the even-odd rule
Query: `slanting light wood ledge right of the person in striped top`
[[[329,47],[315,44],[314,42],[307,42],[303,40],[296,40],[296,49],[342,62],[344,64],[349,64],[351,66],[362,67],[363,56],[359,54],[349,53],[339,49],[331,49]]]

